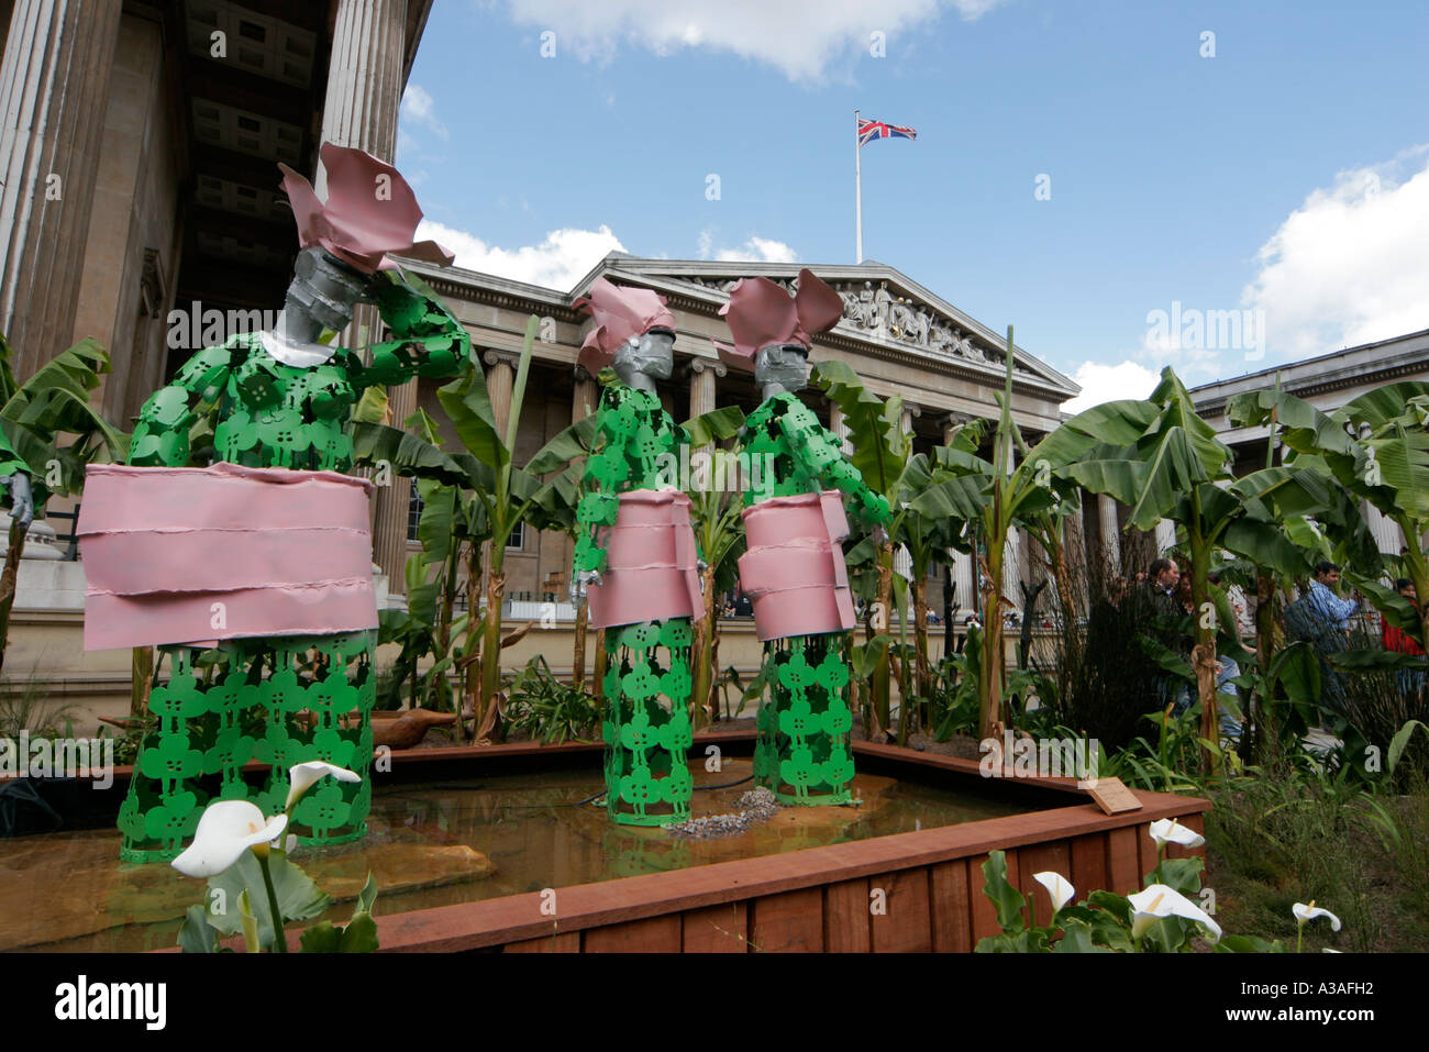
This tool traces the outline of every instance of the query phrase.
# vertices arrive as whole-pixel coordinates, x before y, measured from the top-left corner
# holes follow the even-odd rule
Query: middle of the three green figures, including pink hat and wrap
[[[583,590],[589,623],[606,629],[606,808],[622,825],[669,825],[690,816],[692,620],[704,616],[689,497],[657,489],[683,437],[654,392],[670,376],[674,316],[653,292],[603,277],[577,306],[597,323],[580,364],[619,376],[596,410],[574,553],[577,600]]]

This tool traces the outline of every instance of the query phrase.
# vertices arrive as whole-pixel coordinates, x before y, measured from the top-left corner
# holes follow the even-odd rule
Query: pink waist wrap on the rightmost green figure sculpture
[[[746,507],[749,550],[739,582],[755,605],[762,640],[846,632],[855,625],[849,570],[839,542],[849,536],[836,490],[773,497]]]

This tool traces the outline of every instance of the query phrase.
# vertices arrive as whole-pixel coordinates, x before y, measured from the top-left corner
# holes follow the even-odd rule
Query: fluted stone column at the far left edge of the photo
[[[0,66],[0,332],[20,382],[74,330],[120,11],[120,0],[17,0],[10,19]]]

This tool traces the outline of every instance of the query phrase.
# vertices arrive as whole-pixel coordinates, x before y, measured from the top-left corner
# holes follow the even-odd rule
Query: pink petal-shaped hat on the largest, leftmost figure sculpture
[[[412,240],[422,209],[397,169],[349,146],[323,143],[319,153],[327,169],[326,203],[317,200],[312,183],[279,164],[304,249],[320,244],[367,274],[394,269],[389,254],[452,266],[454,256],[436,242]]]

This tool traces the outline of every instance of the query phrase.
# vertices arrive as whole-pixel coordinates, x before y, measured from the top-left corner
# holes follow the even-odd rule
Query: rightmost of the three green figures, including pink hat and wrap
[[[889,519],[873,493],[796,392],[809,383],[809,347],[837,324],[839,294],[809,270],[790,297],[767,277],[745,279],[720,309],[735,347],[716,344],[732,366],[755,370],[765,400],[742,432],[750,465],[765,465],[763,485],[745,492],[747,552],[740,586],[753,600],[765,645],[755,745],[755,782],[782,803],[847,803],[853,755],[847,703],[849,630],[855,625],[842,497],[870,525]]]

